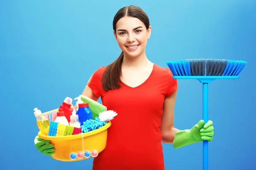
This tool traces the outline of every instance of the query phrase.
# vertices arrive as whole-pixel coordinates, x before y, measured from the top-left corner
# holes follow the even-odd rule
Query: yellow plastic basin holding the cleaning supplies
[[[87,150],[90,152],[96,150],[98,153],[101,153],[102,150],[105,149],[107,144],[108,127],[110,126],[111,122],[108,122],[99,129],[70,136],[46,136],[39,131],[38,137],[50,140],[54,145],[54,153],[51,155],[53,159],[59,161],[79,161],[87,159],[87,157],[83,156],[82,158],[76,157],[76,159],[71,159],[70,154],[79,153],[79,151],[84,153]]]

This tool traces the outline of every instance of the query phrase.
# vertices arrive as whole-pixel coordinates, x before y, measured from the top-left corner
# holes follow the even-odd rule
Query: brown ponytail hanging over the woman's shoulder
[[[122,61],[124,58],[124,52],[120,56],[107,66],[102,75],[102,86],[105,91],[120,88],[119,82],[122,75]]]

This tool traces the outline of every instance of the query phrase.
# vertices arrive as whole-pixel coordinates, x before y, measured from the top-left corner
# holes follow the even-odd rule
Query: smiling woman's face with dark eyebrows
[[[137,57],[145,52],[150,33],[151,26],[147,30],[141,20],[133,17],[122,17],[116,23],[116,33],[114,31],[119,47],[128,57]]]

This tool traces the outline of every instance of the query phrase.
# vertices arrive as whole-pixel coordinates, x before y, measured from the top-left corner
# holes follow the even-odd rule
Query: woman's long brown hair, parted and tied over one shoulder
[[[143,11],[143,9],[137,6],[125,6],[119,9],[119,11],[117,11],[113,19],[113,30],[115,31],[115,33],[116,33],[116,23],[122,17],[125,17],[125,16],[138,18],[145,24],[146,29],[148,30],[150,26],[149,19],[148,19],[148,15]],[[107,65],[107,68],[102,76],[102,85],[105,91],[120,88],[119,82],[120,82],[120,77],[122,75],[121,68],[122,68],[123,58],[124,58],[124,52],[122,51],[120,56],[114,62],[112,62],[110,65]]]

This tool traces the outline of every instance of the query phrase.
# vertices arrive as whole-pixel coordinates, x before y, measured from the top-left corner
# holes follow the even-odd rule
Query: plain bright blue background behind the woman
[[[160,66],[187,58],[248,62],[240,79],[209,85],[209,119],[215,127],[209,170],[256,168],[255,0],[1,0],[0,169],[91,169],[93,159],[61,162],[35,148],[33,109],[45,112],[66,96],[74,99],[97,68],[119,56],[112,20],[128,5],[148,14],[152,34],[146,54]],[[202,119],[202,85],[197,80],[178,80],[178,85],[175,127],[188,129]],[[202,143],[176,150],[163,144],[163,151],[166,170],[202,169]]]

